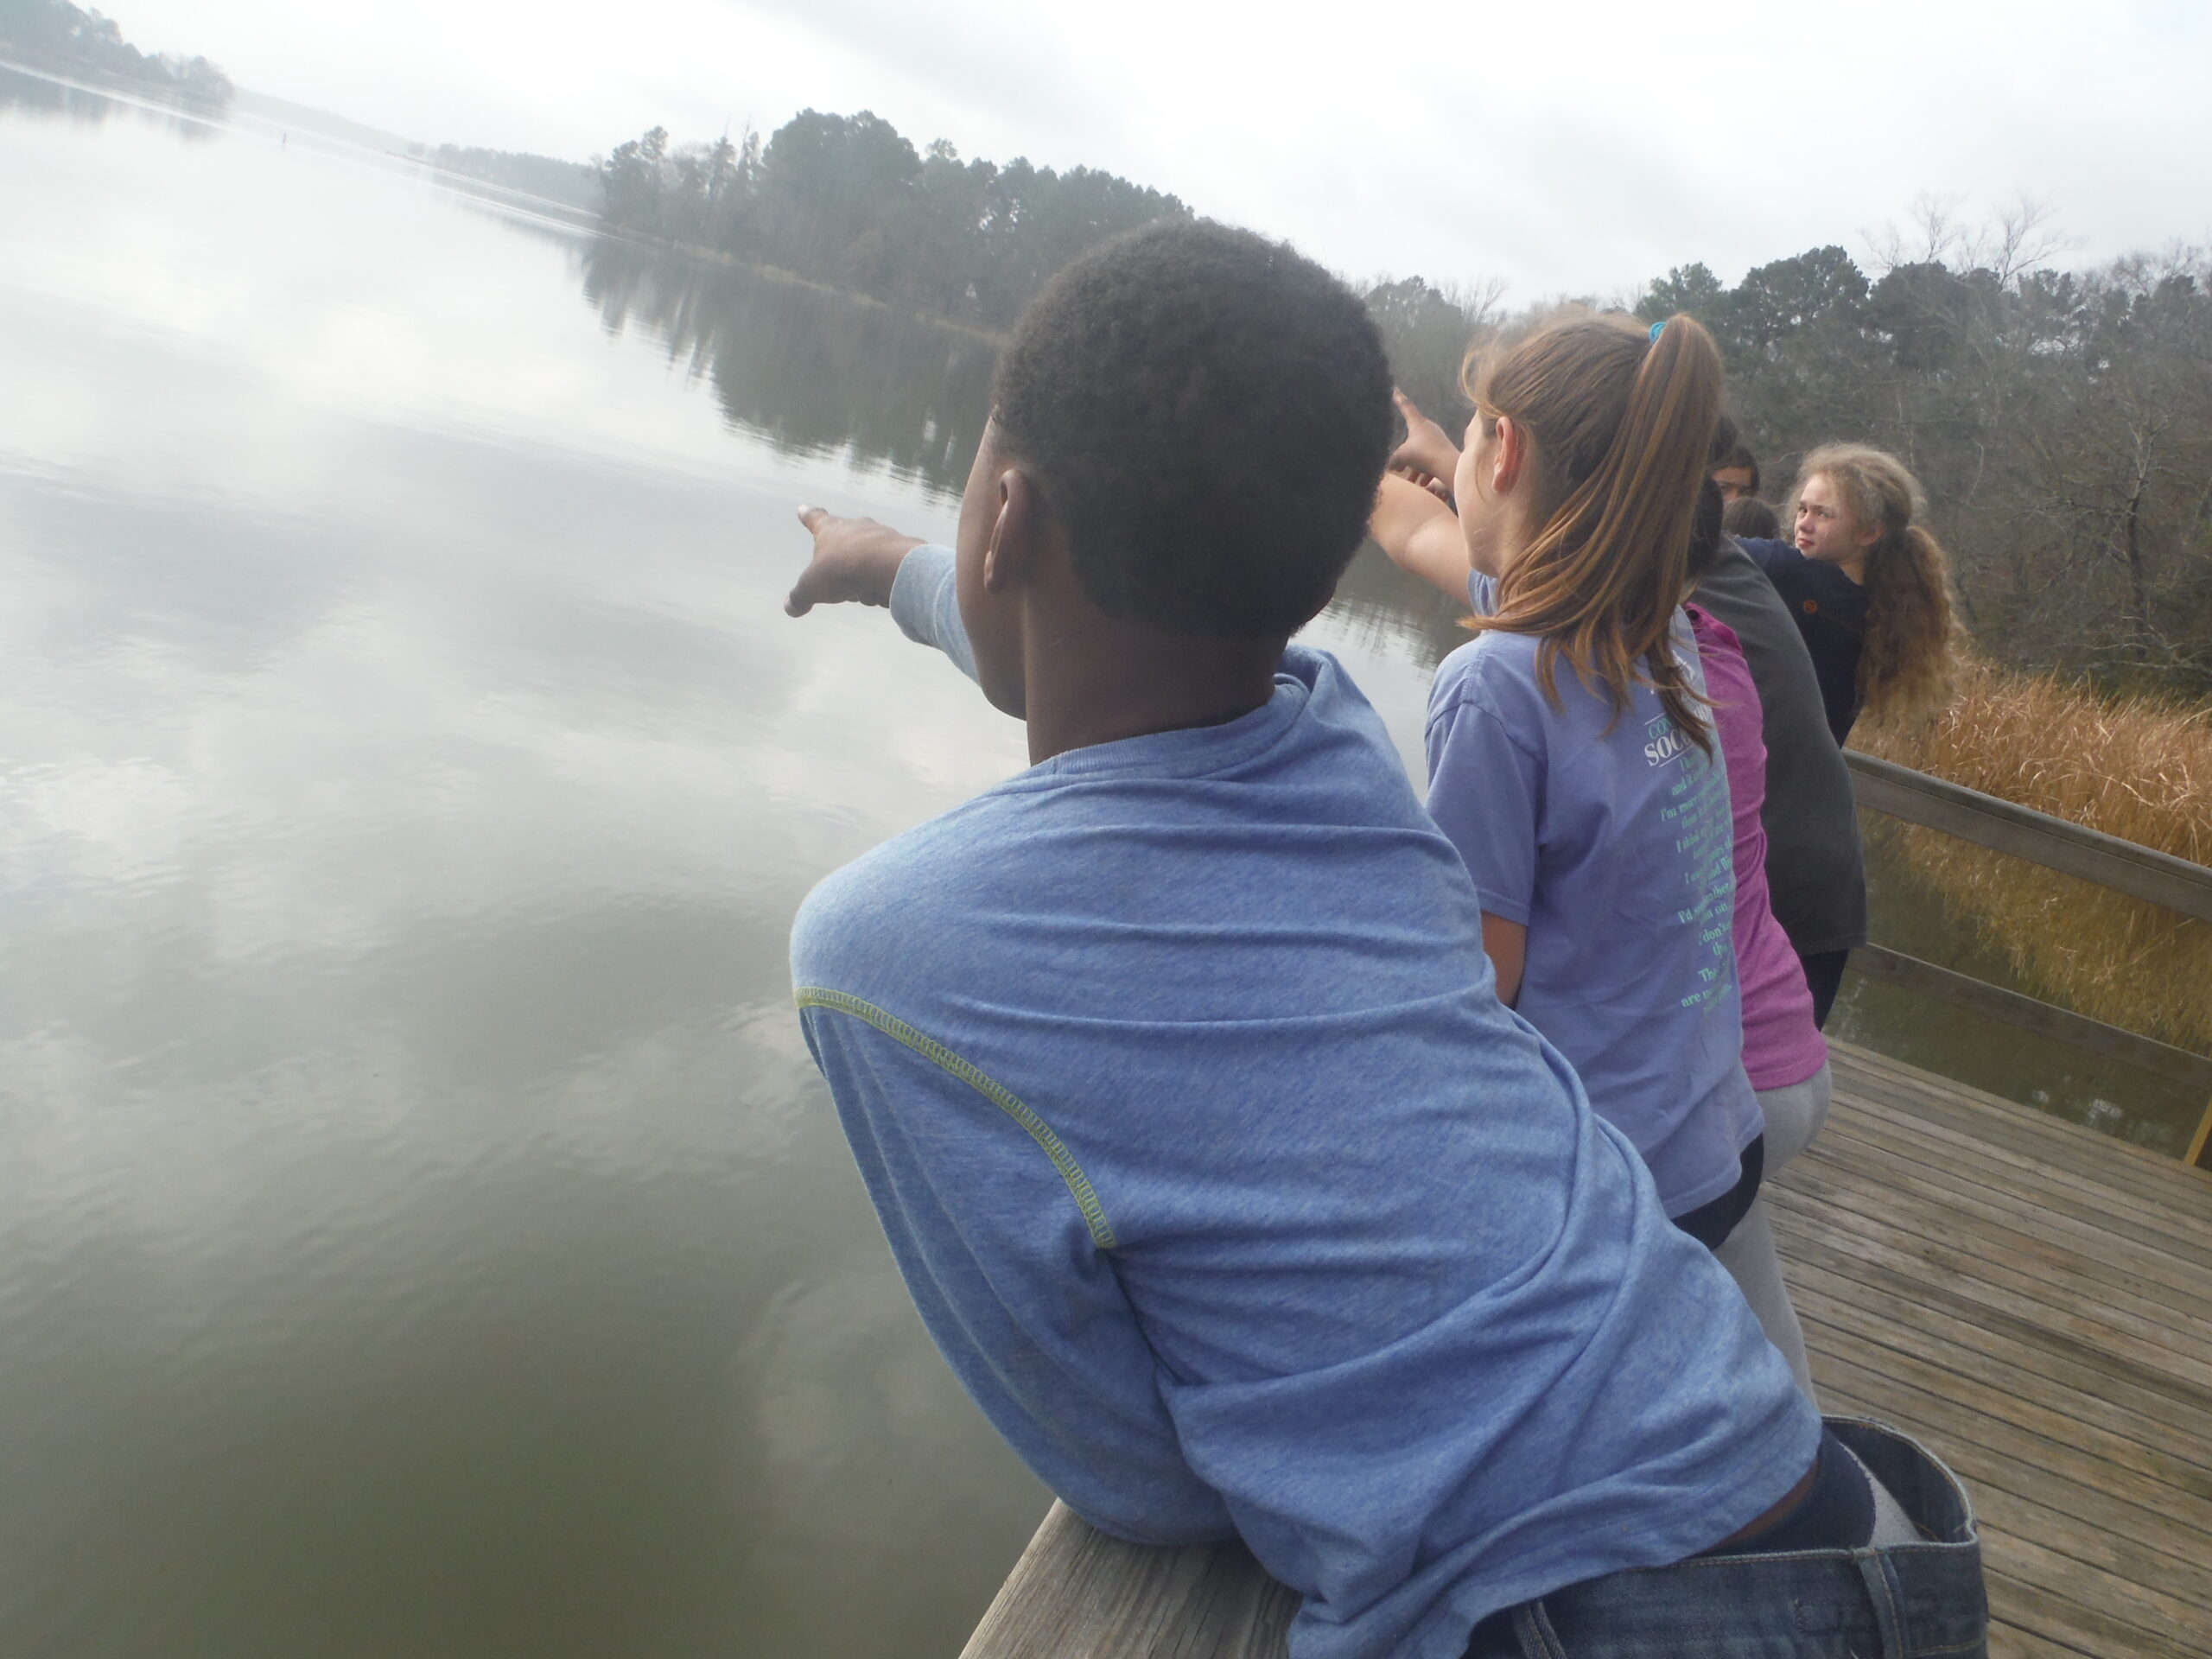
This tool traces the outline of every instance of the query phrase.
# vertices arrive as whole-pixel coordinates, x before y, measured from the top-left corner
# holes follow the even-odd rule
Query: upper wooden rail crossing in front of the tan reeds
[[[2212,869],[1896,761],[1843,752],[1858,805],[2212,922]]]

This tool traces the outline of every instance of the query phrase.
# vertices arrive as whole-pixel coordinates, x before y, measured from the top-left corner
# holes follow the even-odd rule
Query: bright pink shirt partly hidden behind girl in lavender
[[[1705,664],[1705,695],[1728,765],[1728,807],[1736,827],[1736,984],[1743,989],[1743,1071],[1752,1088],[1787,1088],[1827,1064],[1827,1042],[1812,1022],[1805,967],[1767,905],[1767,832],[1759,807],[1767,799],[1767,741],[1759,688],[1743,661],[1743,641],[1725,622],[1694,604],[1690,630]]]

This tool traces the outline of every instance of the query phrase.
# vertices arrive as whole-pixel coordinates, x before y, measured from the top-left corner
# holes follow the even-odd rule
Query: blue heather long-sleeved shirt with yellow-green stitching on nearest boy
[[[967,666],[951,555],[900,626]],[[1681,1559],[1818,1420],[1500,1006],[1467,872],[1325,653],[836,872],[807,1044],[945,1358],[1093,1524],[1245,1537],[1298,1659]]]

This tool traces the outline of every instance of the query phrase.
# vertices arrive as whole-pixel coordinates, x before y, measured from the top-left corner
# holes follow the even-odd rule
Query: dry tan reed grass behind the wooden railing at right
[[[1911,728],[1860,726],[1854,748],[2212,863],[2205,708],[2101,699],[1969,657],[1944,714]],[[2008,951],[2037,995],[2212,1053],[2212,927],[1936,830],[1893,827],[1953,918]]]

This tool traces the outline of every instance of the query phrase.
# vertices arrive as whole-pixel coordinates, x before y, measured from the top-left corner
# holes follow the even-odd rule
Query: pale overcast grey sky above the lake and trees
[[[872,108],[1097,166],[1354,274],[1613,294],[2020,192],[2068,263],[2212,239],[2205,0],[108,0],[148,51],[425,142],[584,159]]]

